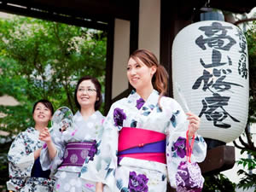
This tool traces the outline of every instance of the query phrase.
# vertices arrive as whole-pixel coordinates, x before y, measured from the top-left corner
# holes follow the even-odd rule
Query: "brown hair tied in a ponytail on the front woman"
[[[156,56],[147,49],[137,49],[131,54],[130,58],[137,61],[138,63],[143,61],[143,63],[148,67],[156,67],[156,72],[152,78],[152,84],[154,89],[160,92],[160,96],[165,95],[169,75],[166,72],[166,68],[160,65]]]

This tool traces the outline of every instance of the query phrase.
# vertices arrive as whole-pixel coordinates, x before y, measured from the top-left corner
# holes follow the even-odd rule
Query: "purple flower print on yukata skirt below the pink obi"
[[[136,174],[136,172],[130,172],[129,186],[130,192],[148,192],[148,177],[144,174]]]

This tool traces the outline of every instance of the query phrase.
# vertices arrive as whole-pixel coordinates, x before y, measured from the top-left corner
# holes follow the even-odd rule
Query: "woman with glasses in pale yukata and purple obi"
[[[98,111],[102,104],[99,81],[90,76],[79,79],[74,100],[79,111],[73,116],[72,127],[63,131],[53,125],[53,131],[40,134],[46,143],[40,160],[43,169],[50,168],[55,173],[54,191],[93,192],[96,183],[80,179],[79,172],[84,161],[93,161],[98,154],[97,137],[102,135],[104,120]]]

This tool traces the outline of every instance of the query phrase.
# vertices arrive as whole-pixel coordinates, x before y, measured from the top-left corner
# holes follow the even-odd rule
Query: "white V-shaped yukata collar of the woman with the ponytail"
[[[131,91],[131,94],[128,96],[128,102],[132,103],[137,107],[137,109],[142,108],[143,106],[156,106],[159,98],[159,92],[157,90],[153,90],[151,94],[148,96],[147,101],[143,101],[143,98],[137,94],[135,90]],[[139,104],[142,103],[142,105]]]

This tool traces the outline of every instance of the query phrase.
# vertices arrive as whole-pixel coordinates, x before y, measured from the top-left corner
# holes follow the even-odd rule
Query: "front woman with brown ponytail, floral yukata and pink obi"
[[[103,124],[101,154],[84,164],[80,177],[96,182],[96,192],[165,192],[167,180],[176,187],[188,126],[189,137],[195,136],[191,161],[205,159],[207,144],[196,134],[200,119],[164,96],[168,74],[150,51],[131,55],[127,77],[136,91],[113,103]]]

